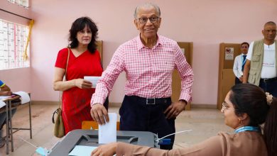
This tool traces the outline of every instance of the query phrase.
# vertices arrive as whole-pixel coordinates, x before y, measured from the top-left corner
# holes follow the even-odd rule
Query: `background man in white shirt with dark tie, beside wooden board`
[[[246,55],[248,52],[249,43],[241,43],[241,55],[237,55],[237,57],[234,59],[234,66],[233,66],[233,72],[236,76],[234,83],[235,84],[241,84],[242,82],[242,75],[244,72],[244,65],[246,62]]]

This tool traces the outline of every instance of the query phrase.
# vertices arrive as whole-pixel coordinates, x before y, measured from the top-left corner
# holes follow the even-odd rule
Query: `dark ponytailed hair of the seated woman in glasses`
[[[266,99],[263,89],[254,84],[236,84],[232,87],[229,100],[237,116],[247,113],[250,118],[248,126],[264,123],[264,141],[268,156],[277,156],[277,99]]]

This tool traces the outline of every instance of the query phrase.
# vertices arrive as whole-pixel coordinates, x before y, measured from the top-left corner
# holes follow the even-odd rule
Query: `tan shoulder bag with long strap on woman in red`
[[[67,49],[68,49],[68,55],[67,55],[67,61],[66,61],[66,67],[65,67],[65,76],[64,77],[66,77],[68,59],[69,59],[69,56],[70,56],[70,49],[69,48],[67,48]],[[64,81],[66,81],[66,78],[64,79]],[[65,126],[63,125],[63,116],[62,116],[63,99],[62,99],[61,94],[63,96],[62,91],[60,91],[59,108],[57,108],[54,111],[53,116],[52,116],[52,122],[54,123],[54,135],[57,138],[63,138],[63,136],[65,136]],[[57,116],[56,116],[55,121],[54,121],[55,113],[57,113]]]

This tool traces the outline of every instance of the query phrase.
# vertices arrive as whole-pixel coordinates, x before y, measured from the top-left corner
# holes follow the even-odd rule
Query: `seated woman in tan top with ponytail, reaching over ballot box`
[[[237,84],[223,104],[224,122],[233,134],[218,133],[202,143],[161,150],[126,143],[101,145],[91,155],[277,155],[277,99],[254,84]],[[260,125],[264,123],[264,133]]]

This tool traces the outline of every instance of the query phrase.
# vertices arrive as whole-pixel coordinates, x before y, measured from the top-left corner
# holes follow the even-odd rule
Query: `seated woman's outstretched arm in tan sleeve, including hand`
[[[222,135],[217,135],[209,138],[202,143],[192,145],[191,147],[182,147],[174,150],[161,150],[153,147],[146,147],[141,145],[131,145],[128,143],[110,143],[101,145],[93,150],[91,155],[213,155],[222,156],[222,152],[227,151],[227,142]]]

